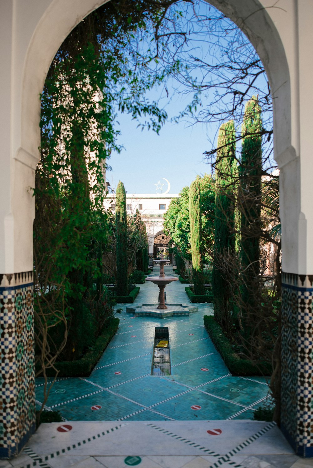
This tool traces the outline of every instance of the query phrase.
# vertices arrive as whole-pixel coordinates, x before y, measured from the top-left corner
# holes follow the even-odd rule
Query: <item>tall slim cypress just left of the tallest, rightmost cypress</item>
[[[214,316],[227,332],[230,327],[231,278],[232,271],[227,271],[220,264],[225,254],[235,253],[235,207],[234,189],[237,179],[235,159],[235,126],[233,120],[222,124],[217,139],[217,160],[215,167],[216,196],[214,213],[214,260],[212,290]],[[223,270],[223,271],[222,271]]]

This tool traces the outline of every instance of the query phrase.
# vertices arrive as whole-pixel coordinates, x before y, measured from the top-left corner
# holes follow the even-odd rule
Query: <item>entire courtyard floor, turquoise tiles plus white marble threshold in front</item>
[[[185,285],[167,301],[188,303]],[[156,302],[141,285],[136,303]],[[134,318],[118,305],[118,333],[88,378],[59,379],[47,409],[63,423],[41,424],[22,453],[0,468],[309,468],[275,423],[249,420],[266,399],[264,378],[232,377],[203,327],[209,304],[189,317]],[[168,377],[150,375],[154,329],[170,329]],[[37,380],[37,403],[42,381]]]

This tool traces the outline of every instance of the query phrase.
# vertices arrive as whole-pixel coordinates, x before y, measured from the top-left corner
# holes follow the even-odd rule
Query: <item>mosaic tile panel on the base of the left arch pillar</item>
[[[1,458],[18,453],[35,426],[32,275],[0,275]]]

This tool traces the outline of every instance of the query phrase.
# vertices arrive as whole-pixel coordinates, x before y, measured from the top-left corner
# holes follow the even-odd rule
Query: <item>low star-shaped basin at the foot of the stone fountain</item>
[[[126,312],[134,314],[135,317],[158,317],[160,319],[172,317],[173,315],[189,316],[194,312],[198,312],[198,307],[190,306],[189,304],[166,304],[166,310],[160,310],[156,304],[138,304],[136,306],[126,307]]]

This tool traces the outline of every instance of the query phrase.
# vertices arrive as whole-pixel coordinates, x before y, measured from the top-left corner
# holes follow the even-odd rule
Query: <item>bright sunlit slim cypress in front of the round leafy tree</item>
[[[199,180],[196,179],[190,185],[189,190],[189,222],[190,244],[192,257],[192,278],[195,294],[204,294],[203,267],[201,252],[201,195]]]

